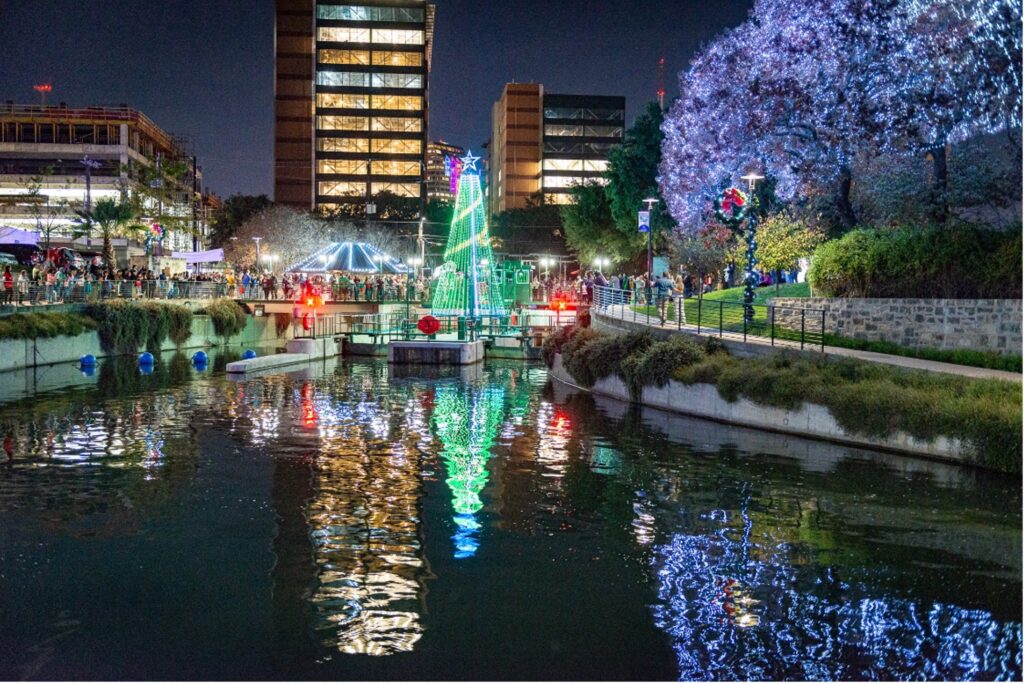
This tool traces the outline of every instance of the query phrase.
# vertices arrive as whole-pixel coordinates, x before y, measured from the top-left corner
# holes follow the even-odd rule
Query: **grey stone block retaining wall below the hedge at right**
[[[800,329],[800,308],[824,308],[825,332],[909,348],[1021,352],[1019,299],[774,299],[775,322]]]

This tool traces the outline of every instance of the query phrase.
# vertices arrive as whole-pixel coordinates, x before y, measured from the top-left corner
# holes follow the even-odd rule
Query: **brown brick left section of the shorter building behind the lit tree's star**
[[[521,209],[541,188],[539,83],[508,83],[492,110],[487,174],[490,215]]]

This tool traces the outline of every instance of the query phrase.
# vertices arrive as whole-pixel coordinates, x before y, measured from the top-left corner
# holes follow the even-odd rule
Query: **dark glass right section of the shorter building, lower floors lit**
[[[608,154],[623,143],[626,98],[544,96],[545,204],[568,204],[572,185],[605,183]]]

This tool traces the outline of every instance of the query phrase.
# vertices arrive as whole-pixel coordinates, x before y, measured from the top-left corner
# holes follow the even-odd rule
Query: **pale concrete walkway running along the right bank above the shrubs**
[[[687,334],[695,335],[697,334],[697,326],[687,325],[683,323],[679,325],[676,321],[669,321],[665,325],[660,324],[660,319],[654,315],[647,315],[646,313],[640,313],[634,311],[630,306],[625,304],[611,305],[604,308],[603,311],[592,310],[592,313],[599,315],[608,322],[623,322],[632,323],[636,325],[642,325],[644,327],[653,328],[656,330],[665,330],[667,332],[686,332]],[[701,336],[708,337],[718,337],[718,331],[710,331],[708,328],[701,328]],[[792,348],[795,350],[800,350],[800,342],[793,342],[782,339],[775,339],[774,344],[772,340],[766,337],[755,337],[748,335],[746,339],[743,339],[742,334],[737,334],[734,332],[724,332],[721,337],[723,339],[728,339],[733,342],[741,342],[746,344],[755,344],[758,346],[774,346],[776,348]],[[895,366],[897,368],[906,368],[909,370],[922,370],[929,373],[941,373],[944,375],[958,375],[961,377],[972,377],[975,379],[994,379],[1004,380],[1007,382],[1021,382],[1022,375],[1019,373],[1011,373],[1005,370],[989,370],[987,368],[974,368],[971,366],[957,366],[952,362],[940,362],[938,360],[926,360],[924,358],[909,358],[902,355],[891,355],[889,353],[876,353],[874,351],[861,351],[852,348],[842,348],[839,346],[825,346],[815,344],[805,344],[805,351],[817,351],[822,352],[825,355],[841,356],[845,358],[856,358],[858,360],[864,360],[867,362],[881,362],[888,366]]]

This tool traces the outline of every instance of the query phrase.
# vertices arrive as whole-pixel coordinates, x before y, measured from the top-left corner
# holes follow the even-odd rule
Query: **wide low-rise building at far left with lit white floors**
[[[218,201],[187,142],[141,112],[0,105],[0,225],[70,244],[75,212],[104,198],[131,200],[140,222],[163,223],[165,251],[202,250]]]

